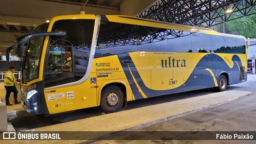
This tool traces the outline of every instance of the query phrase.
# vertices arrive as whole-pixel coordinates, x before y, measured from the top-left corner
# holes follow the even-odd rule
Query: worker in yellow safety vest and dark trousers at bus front
[[[17,100],[18,90],[14,85],[14,84],[18,85],[19,83],[16,82],[15,80],[15,76],[13,74],[14,71],[15,71],[15,68],[11,66],[8,72],[4,74],[4,88],[6,89],[6,95],[5,95],[6,106],[12,106],[12,104],[10,104],[9,102],[9,98],[12,92],[14,95],[15,104],[20,104],[20,102],[18,102]]]

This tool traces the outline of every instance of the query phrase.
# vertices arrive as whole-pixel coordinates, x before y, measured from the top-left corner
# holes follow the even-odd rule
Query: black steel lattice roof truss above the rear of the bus
[[[228,5],[233,10],[230,14],[225,12]],[[256,14],[255,9],[255,0],[159,0],[138,17],[209,27]]]

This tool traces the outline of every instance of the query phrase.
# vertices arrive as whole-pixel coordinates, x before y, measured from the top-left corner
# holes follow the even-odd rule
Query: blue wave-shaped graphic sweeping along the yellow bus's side
[[[130,84],[130,88],[132,89],[132,91],[134,93],[135,99],[142,99],[143,96],[142,96],[142,94],[140,94],[138,92],[138,88],[136,88],[136,85],[134,84],[134,80],[132,79],[130,70],[128,68],[128,65],[129,65],[129,67],[132,71],[132,74],[134,75],[138,84],[143,82],[142,78],[140,77],[140,74],[138,73],[138,71],[132,61],[132,58],[130,57],[130,55],[128,53],[118,54],[118,58],[120,60],[123,70],[125,71],[126,78],[128,79],[128,82],[133,82],[133,84],[132,84],[133,86]],[[233,66],[233,68],[230,68],[228,66],[228,64],[217,54],[206,54],[198,62],[198,64],[194,68],[193,72],[190,74],[188,80],[186,80],[186,82],[184,82],[184,84],[182,84],[178,88],[174,88],[174,89],[170,89],[170,90],[151,90],[150,88],[146,87],[145,85],[144,86],[139,85],[139,86],[140,86],[140,89],[144,93],[151,92],[150,95],[146,95],[147,97],[194,90],[194,75],[198,76],[198,77],[203,76],[203,74],[202,74],[203,71],[208,72],[208,70],[204,70],[205,68],[210,68],[210,70],[214,73],[215,76],[216,76],[216,74],[220,74],[221,72],[226,72],[226,70],[228,70],[227,73],[229,73],[229,72],[233,73],[234,71],[239,72],[241,74],[240,82],[242,82],[242,80],[244,80],[244,69],[242,68],[242,62],[236,54],[234,54],[234,56],[232,57],[232,61],[234,61],[234,66],[236,65],[236,62],[237,62],[238,67],[240,68],[240,71],[234,69],[234,66]],[[199,69],[199,70],[197,69],[197,71],[195,71],[196,68],[201,68],[201,69]],[[218,76],[216,76],[216,80],[218,80]],[[233,84],[233,83],[231,83],[231,84]],[[209,86],[210,87],[215,86],[214,78],[212,78],[211,74],[209,74]]]

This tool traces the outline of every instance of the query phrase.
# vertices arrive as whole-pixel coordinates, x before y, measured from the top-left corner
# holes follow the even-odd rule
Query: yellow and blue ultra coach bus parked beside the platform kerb
[[[11,50],[23,58],[22,107],[33,114],[95,106],[111,113],[128,101],[224,91],[247,78],[243,36],[131,16],[54,16],[17,38],[7,57]],[[61,67],[67,51],[71,72]]]

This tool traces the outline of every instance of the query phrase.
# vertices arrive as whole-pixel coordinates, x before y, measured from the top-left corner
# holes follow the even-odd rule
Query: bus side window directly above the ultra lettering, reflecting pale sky
[[[190,32],[167,30],[168,52],[192,52]]]

